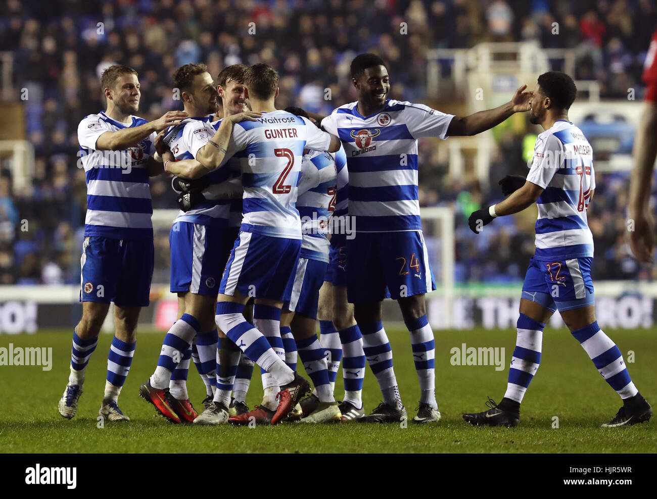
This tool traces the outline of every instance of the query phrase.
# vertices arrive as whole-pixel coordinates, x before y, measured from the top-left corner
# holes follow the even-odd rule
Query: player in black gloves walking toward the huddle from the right
[[[559,311],[572,335],[623,401],[618,414],[603,427],[643,423],[650,419],[648,401],[637,390],[623,355],[595,320],[591,280],[593,235],[586,210],[595,190],[593,149],[581,130],[568,119],[577,89],[570,76],[551,71],[538,77],[530,100],[530,121],[543,127],[536,139],[533,163],[526,181],[515,177],[501,181],[499,204],[470,215],[468,225],[478,234],[497,217],[518,213],[536,203],[536,253],[522,285],[518,336],[509,368],[509,381],[499,404],[489,399],[489,409],[463,414],[473,425],[516,426],[520,403],[541,362],[543,328]]]

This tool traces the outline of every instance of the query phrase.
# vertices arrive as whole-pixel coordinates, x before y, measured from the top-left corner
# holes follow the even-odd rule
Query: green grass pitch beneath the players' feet
[[[522,406],[520,426],[512,429],[471,427],[462,412],[484,410],[487,395],[501,399],[515,342],[514,330],[436,331],[436,394],[442,421],[407,427],[400,424],[344,423],[276,427],[194,427],[173,425],[155,416],[150,404],[137,395],[139,385],[154,369],[163,333],[141,332],[120,406],[132,421],[97,427],[106,374],[106,355],[112,337],[101,334],[87,368],[78,415],[64,420],[57,401],[68,379],[71,332],[44,331],[32,335],[0,336],[0,347],[52,347],[53,366],[0,366],[0,450],[2,452],[654,452],[657,421],[633,427],[603,429],[620,407],[620,399],[600,378],[591,360],[566,330],[548,328],[543,337],[541,368]],[[641,393],[657,401],[654,368],[657,343],[648,330],[612,330],[623,356],[634,352],[629,372]],[[390,328],[394,364],[401,397],[415,414],[419,386],[411,357],[408,332]],[[454,366],[450,349],[505,347],[505,367]],[[300,372],[303,372],[302,364]],[[367,368],[363,398],[365,409],[380,401],[376,380]],[[247,402],[260,402],[259,370],[254,371]],[[194,366],[188,380],[191,400],[198,409],[204,386]],[[343,395],[338,375],[336,398]],[[558,418],[558,427],[555,426]]]

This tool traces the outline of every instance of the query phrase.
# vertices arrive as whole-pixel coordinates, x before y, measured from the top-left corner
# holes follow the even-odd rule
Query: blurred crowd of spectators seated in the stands
[[[355,100],[348,65],[354,54],[367,51],[390,64],[391,98],[436,102],[435,96],[426,95],[426,51],[468,48],[482,41],[535,39],[543,47],[573,48],[578,56],[576,79],[599,81],[602,98],[626,97],[629,87],[641,98],[643,60],[657,26],[657,9],[649,0],[3,4],[0,51],[14,54],[14,86],[28,89],[26,137],[35,148],[35,175],[31,189],[12,192],[11,174],[3,165],[0,284],[79,281],[86,188],[84,171],[76,167],[76,127],[83,116],[104,108],[99,75],[113,62],[139,72],[139,115],[145,119],[182,108],[173,100],[171,75],[178,66],[198,61],[206,62],[211,74],[236,62],[271,64],[281,74],[279,108],[296,105],[327,114]],[[401,22],[408,23],[408,35],[399,33]],[[551,35],[555,22],[559,36]],[[255,30],[254,35],[246,34],[248,30]],[[327,88],[331,100],[325,100]],[[526,173],[522,136],[507,133],[498,145],[499,152],[491,158],[491,181],[507,173]],[[420,141],[419,164],[420,204],[456,207],[457,282],[522,280],[534,250],[533,219],[509,217],[498,224],[499,230],[473,238],[465,221],[474,209],[499,199],[497,185],[489,191],[447,175],[435,142]],[[628,183],[629,174],[597,175],[589,209],[597,280],[649,277],[631,257],[625,240]],[[152,198],[154,209],[176,207],[166,179],[152,180]],[[167,282],[168,228],[156,233],[155,245],[153,282]]]

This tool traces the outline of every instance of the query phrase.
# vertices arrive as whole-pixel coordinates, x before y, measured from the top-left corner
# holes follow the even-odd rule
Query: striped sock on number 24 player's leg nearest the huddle
[[[393,407],[401,408],[401,396],[397,387],[397,378],[392,368],[392,348],[383,328],[382,322],[359,324],[363,333],[363,351],[367,362],[376,376],[383,401]]]

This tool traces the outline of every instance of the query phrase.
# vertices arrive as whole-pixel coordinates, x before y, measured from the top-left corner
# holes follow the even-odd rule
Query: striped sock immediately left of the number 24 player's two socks
[[[354,325],[338,332],[338,337],[344,354],[342,359],[344,401],[360,409],[363,407],[363,380],[365,380],[363,336],[360,328]]]

